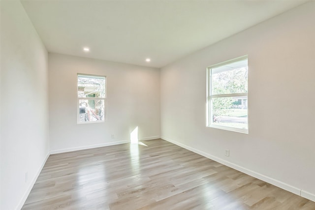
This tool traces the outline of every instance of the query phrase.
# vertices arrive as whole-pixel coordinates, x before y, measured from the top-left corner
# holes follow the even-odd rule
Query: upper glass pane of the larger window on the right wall
[[[211,69],[211,94],[248,92],[247,60]]]

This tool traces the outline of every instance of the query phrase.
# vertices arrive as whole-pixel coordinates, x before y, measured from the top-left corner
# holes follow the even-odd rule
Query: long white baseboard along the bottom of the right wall
[[[240,172],[243,172],[243,173],[245,173],[245,174],[248,174],[248,175],[250,175],[250,176],[252,176],[252,177],[254,177],[254,178],[257,178],[257,179],[259,179],[259,180],[266,181],[266,182],[268,182],[268,183],[270,183],[270,184],[273,184],[273,185],[275,185],[275,186],[277,186],[277,187],[280,187],[280,188],[282,188],[282,189],[284,189],[284,190],[287,190],[287,191],[289,191],[289,192],[292,192],[292,193],[294,193],[294,194],[296,194],[296,195],[299,195],[299,196],[302,196],[302,197],[307,198],[307,199],[309,199],[309,200],[315,201],[315,195],[314,195],[314,194],[311,194],[311,193],[309,193],[309,192],[305,192],[305,191],[303,191],[303,190],[301,190],[301,189],[299,189],[299,188],[297,188],[297,187],[291,186],[291,185],[289,185],[289,184],[287,184],[287,183],[284,183],[284,182],[282,182],[282,181],[280,181],[280,180],[275,180],[275,179],[273,179],[273,178],[271,178],[271,177],[265,176],[265,175],[263,175],[263,174],[259,174],[259,173],[257,173],[257,172],[254,172],[254,171],[250,170],[250,169],[247,169],[247,168],[244,168],[244,167],[242,167],[242,166],[239,166],[239,165],[236,165],[236,164],[234,164],[234,163],[231,163],[231,162],[229,162],[229,161],[223,160],[223,159],[221,159],[221,158],[219,158],[219,157],[213,156],[213,155],[208,154],[208,153],[206,153],[206,152],[204,152],[204,151],[194,149],[194,148],[192,148],[192,147],[189,147],[189,146],[187,146],[187,145],[185,145],[185,144],[182,144],[182,143],[180,143],[180,142],[177,142],[177,141],[175,141],[175,140],[168,139],[168,138],[166,138],[166,137],[164,137],[164,136],[161,136],[161,139],[163,139],[163,140],[165,140],[165,141],[168,141],[168,142],[171,142],[171,143],[173,143],[173,144],[175,144],[175,145],[178,145],[178,146],[180,146],[180,147],[182,147],[182,148],[185,148],[185,149],[187,149],[187,150],[193,151],[193,152],[195,152],[195,153],[197,153],[197,154],[200,154],[200,155],[202,155],[202,156],[204,156],[204,157],[207,157],[207,158],[209,158],[209,159],[212,159],[212,160],[214,160],[214,161],[217,161],[217,162],[219,162],[219,163],[221,163],[221,164],[223,164],[223,165],[226,165],[226,166],[228,166],[228,167],[230,167],[230,168],[233,168],[233,169],[235,169],[235,170],[238,170],[238,171],[240,171]]]

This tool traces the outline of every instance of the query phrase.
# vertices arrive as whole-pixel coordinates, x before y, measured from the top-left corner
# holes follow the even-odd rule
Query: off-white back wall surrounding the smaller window
[[[106,122],[77,124],[77,73],[106,76]],[[159,138],[159,90],[156,68],[49,54],[51,152],[126,143],[137,126],[140,140]]]

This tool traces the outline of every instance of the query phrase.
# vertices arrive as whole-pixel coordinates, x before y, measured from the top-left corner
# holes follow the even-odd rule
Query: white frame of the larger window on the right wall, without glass
[[[212,69],[223,66],[223,65],[227,65],[230,63],[242,61],[242,60],[247,60],[247,62],[248,62],[248,55],[238,57],[235,59],[231,59],[231,60],[227,60],[227,61],[217,63],[215,65],[211,65],[211,66],[207,67],[207,111],[206,111],[206,125],[207,125],[207,127],[218,128],[218,129],[222,129],[222,130],[235,131],[235,132],[240,132],[240,133],[245,133],[245,134],[249,133],[249,118],[247,118],[247,123],[248,123],[247,129],[218,125],[218,124],[213,123],[213,111],[212,111],[212,109],[213,109],[212,99],[213,98],[220,98],[220,97],[232,98],[232,97],[244,97],[244,96],[246,96],[247,100],[248,100],[248,92],[249,91],[247,90],[247,92],[229,93],[229,94],[212,94]],[[248,107],[247,107],[247,116],[249,116]]]

